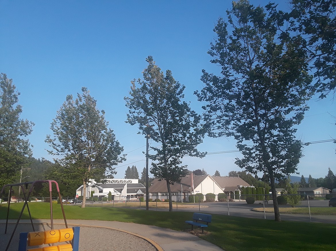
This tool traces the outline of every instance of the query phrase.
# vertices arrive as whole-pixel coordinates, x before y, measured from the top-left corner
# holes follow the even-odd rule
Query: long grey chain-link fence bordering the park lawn
[[[329,205],[330,194],[299,195],[282,194],[277,197],[281,220],[305,221],[336,224],[336,204]],[[336,196],[336,195],[335,195]],[[6,203],[2,198],[1,203]],[[8,197],[7,197],[8,200]],[[59,203],[57,197],[53,197]],[[57,201],[58,200],[58,201]],[[82,197],[63,198],[65,205],[79,205]],[[12,202],[22,202],[21,199],[11,199]],[[32,197],[29,201],[50,202],[50,197]],[[138,196],[112,196],[88,197],[86,206],[113,206],[145,210],[146,197]],[[149,196],[149,210],[169,211],[168,195]],[[257,219],[274,220],[274,205],[271,195],[173,195],[173,211],[201,212],[206,214],[223,214],[228,216],[249,217]]]

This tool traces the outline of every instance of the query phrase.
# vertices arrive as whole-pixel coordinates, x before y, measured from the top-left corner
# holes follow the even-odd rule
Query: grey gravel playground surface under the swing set
[[[15,224],[8,224],[7,234],[5,223],[0,223],[0,249],[5,250]],[[35,231],[50,230],[47,224],[34,224]],[[73,227],[68,225],[68,227]],[[62,229],[65,226],[54,225],[54,229]],[[20,232],[33,232],[31,224],[19,223],[8,251],[17,251]],[[66,242],[59,243],[65,244]],[[41,247],[41,246],[40,246]],[[34,248],[34,247],[29,247]],[[149,242],[134,235],[105,228],[81,227],[79,236],[79,251],[156,251]]]

